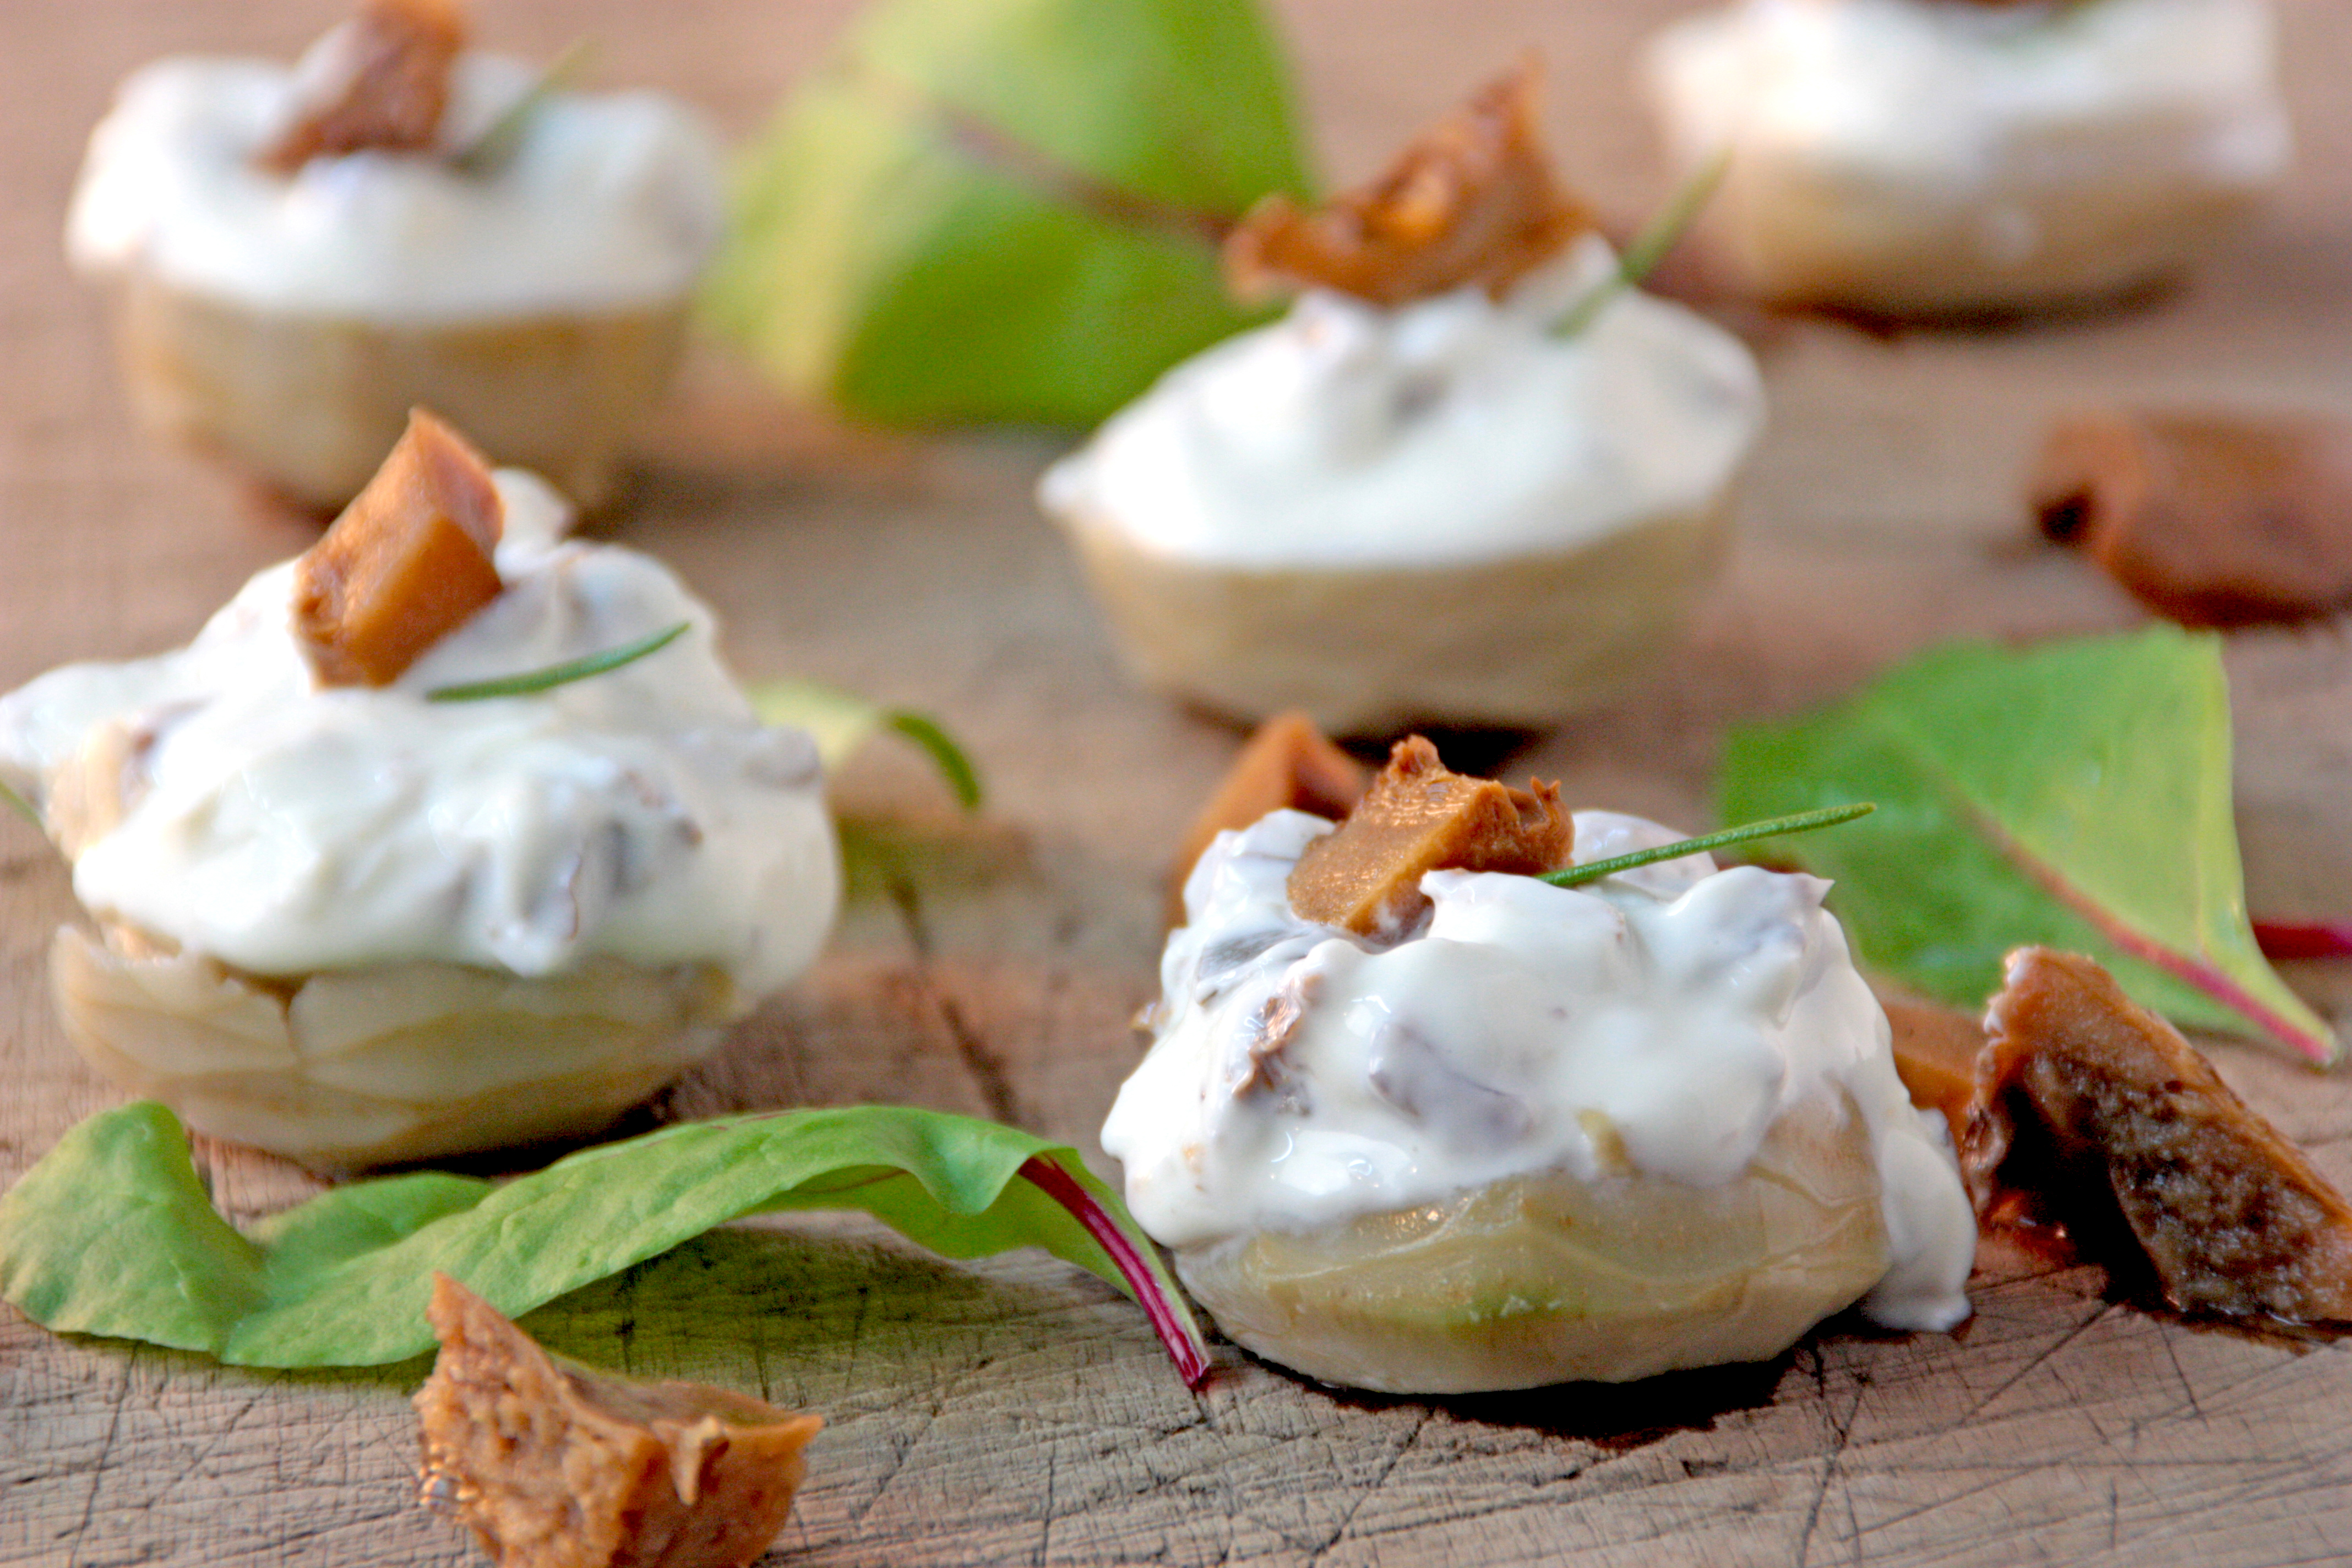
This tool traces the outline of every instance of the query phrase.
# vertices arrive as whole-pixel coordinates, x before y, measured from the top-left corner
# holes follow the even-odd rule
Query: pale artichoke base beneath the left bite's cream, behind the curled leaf
[[[64,926],[49,945],[75,1048],[188,1126],[318,1171],[590,1133],[743,1013],[708,964],[597,957],[536,980],[381,964],[273,983]]]

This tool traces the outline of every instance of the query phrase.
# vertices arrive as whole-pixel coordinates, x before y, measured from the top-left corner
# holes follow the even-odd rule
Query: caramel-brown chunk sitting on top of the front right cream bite
[[[1463,778],[1421,736],[1397,741],[1348,820],[1308,844],[1291,867],[1291,910],[1301,919],[1359,936],[1411,931],[1430,900],[1423,872],[1550,872],[1569,863],[1576,825],[1559,809],[1559,785],[1510,790]]]

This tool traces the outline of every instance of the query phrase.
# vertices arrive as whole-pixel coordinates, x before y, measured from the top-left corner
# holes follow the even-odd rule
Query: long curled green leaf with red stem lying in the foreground
[[[1200,1328],[1077,1152],[903,1105],[661,1128],[492,1185],[334,1187],[238,1234],[160,1105],[101,1112],[0,1197],[0,1298],[35,1324],[238,1366],[383,1366],[433,1347],[435,1269],[508,1316],[753,1213],[863,1211],[948,1258],[1042,1246],[1127,1291],[1188,1385]]]

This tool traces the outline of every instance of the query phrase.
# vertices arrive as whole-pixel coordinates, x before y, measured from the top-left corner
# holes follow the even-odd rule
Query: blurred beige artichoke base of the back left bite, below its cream
[[[139,418],[320,510],[367,487],[416,407],[492,463],[602,503],[630,428],[677,371],[687,324],[684,299],[447,324],[285,315],[141,275],[118,306]]]

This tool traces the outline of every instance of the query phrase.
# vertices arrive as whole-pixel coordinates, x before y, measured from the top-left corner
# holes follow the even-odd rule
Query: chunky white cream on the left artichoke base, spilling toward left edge
[[[715,964],[748,1004],[816,957],[840,870],[809,736],[753,715],[708,607],[661,562],[560,541],[562,501],[532,475],[501,470],[499,491],[506,592],[390,686],[318,686],[280,562],[186,649],[0,698],[0,778],[33,802],[85,748],[132,738],[129,809],[73,863],[87,910],[261,976],[548,976],[612,954]],[[423,696],[677,621],[593,679]]]

